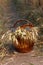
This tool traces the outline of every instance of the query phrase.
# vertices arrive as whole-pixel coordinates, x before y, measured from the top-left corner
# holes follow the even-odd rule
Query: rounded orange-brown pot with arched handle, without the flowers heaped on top
[[[23,20],[19,20],[17,21],[15,24],[14,24],[14,27],[16,27],[16,24],[19,23],[19,22],[22,22]],[[27,21],[27,20],[26,20]],[[24,24],[24,25],[21,25],[20,26],[20,29],[25,29],[26,27],[28,28],[32,28],[33,25],[32,24]],[[17,31],[17,28],[15,28],[15,31]],[[29,30],[28,30],[29,31]],[[28,32],[27,31],[27,32]],[[16,34],[16,32],[15,32]],[[21,38],[19,35],[15,35],[13,34],[12,35],[12,41],[13,41],[13,46],[15,47],[15,49],[18,51],[18,52],[21,52],[21,53],[26,53],[26,52],[29,52],[33,49],[33,46],[34,46],[34,41],[31,40],[31,39],[27,39],[27,38]]]

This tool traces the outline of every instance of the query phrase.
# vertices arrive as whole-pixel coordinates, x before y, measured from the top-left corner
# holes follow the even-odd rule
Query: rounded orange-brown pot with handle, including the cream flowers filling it
[[[12,35],[13,46],[18,52],[26,53],[33,49],[34,41],[29,38],[31,36],[31,30],[27,30],[26,27],[32,29],[33,25],[30,23],[16,27],[16,24],[27,20],[18,20],[14,24],[15,32]],[[22,32],[21,32],[22,31]]]

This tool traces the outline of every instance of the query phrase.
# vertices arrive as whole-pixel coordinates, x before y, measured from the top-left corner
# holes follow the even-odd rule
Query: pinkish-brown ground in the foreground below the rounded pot
[[[12,57],[5,57],[0,65],[43,65],[42,56],[34,56],[34,51],[30,53],[16,53]]]

